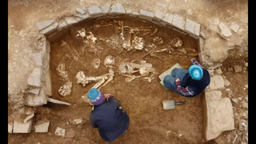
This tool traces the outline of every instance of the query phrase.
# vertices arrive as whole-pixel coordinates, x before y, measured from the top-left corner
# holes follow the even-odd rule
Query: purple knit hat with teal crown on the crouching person
[[[99,105],[104,100],[104,94],[102,94],[98,89],[92,88],[88,92],[88,98],[93,105]]]

